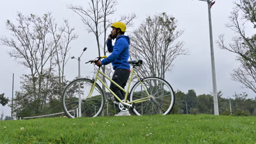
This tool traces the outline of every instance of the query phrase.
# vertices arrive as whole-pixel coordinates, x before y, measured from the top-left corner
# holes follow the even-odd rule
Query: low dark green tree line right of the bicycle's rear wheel
[[[249,116],[256,116],[256,100],[248,99],[248,94],[235,94],[235,99],[223,98],[222,92],[219,91],[218,107],[220,115],[230,115],[230,106],[232,113],[240,113],[240,110],[247,113]],[[197,95],[193,89],[190,89],[187,94],[182,91],[175,92],[175,105],[171,113],[187,113],[186,103],[188,101],[188,113],[197,115],[199,113],[214,114],[213,95],[201,94]],[[240,110],[238,110],[240,109]],[[240,115],[240,114],[237,114]],[[235,116],[235,115],[234,115]]]

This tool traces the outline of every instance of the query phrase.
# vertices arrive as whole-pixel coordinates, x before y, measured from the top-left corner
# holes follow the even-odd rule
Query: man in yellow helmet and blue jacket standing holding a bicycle
[[[127,63],[129,58],[130,38],[127,35],[124,35],[126,29],[125,23],[114,22],[111,27],[112,31],[111,34],[108,35],[107,47],[108,52],[112,53],[107,58],[102,61],[98,61],[95,64],[100,66],[112,63],[113,69],[115,70],[112,80],[124,88],[131,72],[130,64]],[[116,39],[114,46],[112,45],[112,39]],[[124,100],[125,92],[115,86],[112,82],[110,83],[110,89],[121,100]],[[120,111],[115,116],[131,116],[131,114],[129,111]]]

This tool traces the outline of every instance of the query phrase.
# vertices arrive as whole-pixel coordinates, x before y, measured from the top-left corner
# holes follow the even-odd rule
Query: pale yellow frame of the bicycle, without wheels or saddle
[[[104,83],[104,82],[100,79],[100,77],[98,76],[99,73],[102,74],[104,77],[106,77],[110,82],[113,82],[114,85],[118,86],[122,91],[125,92],[125,99],[124,99],[124,102],[123,102],[120,98],[118,98],[117,95],[106,85],[106,83]],[[90,93],[89,93],[89,95],[88,95],[88,97],[87,97],[86,99],[88,99],[88,98],[91,97],[92,93],[94,92],[94,88],[95,88],[95,85],[96,85],[96,81],[99,80],[99,81],[102,83],[102,85],[104,85],[104,86],[108,89],[108,91],[109,91],[110,93],[112,93],[115,98],[118,99],[118,101],[119,101],[121,104],[125,104],[125,105],[127,105],[127,106],[131,106],[130,104],[132,104],[132,103],[137,104],[137,103],[141,103],[141,102],[143,102],[143,101],[148,101],[149,98],[150,98],[150,94],[148,93],[146,87],[145,87],[145,86],[143,85],[143,83],[141,82],[141,85],[143,86],[144,90],[146,91],[148,97],[142,98],[142,99],[133,100],[133,101],[129,101],[128,103],[126,103],[126,100],[127,100],[127,97],[128,97],[128,93],[129,93],[129,89],[130,89],[130,85],[131,85],[131,80],[132,80],[133,74],[135,74],[136,77],[137,77],[137,79],[139,80],[139,82],[141,82],[141,80],[139,79],[138,75],[135,73],[134,68],[132,68],[132,69],[131,69],[130,80],[129,80],[129,83],[128,83],[128,86],[127,86],[127,90],[125,90],[123,87],[119,86],[119,85],[118,85],[117,83],[115,83],[112,79],[110,79],[107,75],[103,74],[102,71],[101,71],[100,68],[99,68],[99,69],[97,70],[97,73],[96,73],[96,76],[95,76],[94,84],[92,85],[92,87],[91,87],[91,89],[90,89]]]

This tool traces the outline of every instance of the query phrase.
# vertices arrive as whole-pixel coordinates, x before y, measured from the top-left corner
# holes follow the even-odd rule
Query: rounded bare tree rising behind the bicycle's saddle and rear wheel
[[[143,59],[145,64],[138,69],[143,77],[165,79],[165,73],[171,70],[173,60],[187,54],[183,42],[177,41],[182,33],[177,29],[177,20],[166,13],[149,16],[133,31],[130,57]]]

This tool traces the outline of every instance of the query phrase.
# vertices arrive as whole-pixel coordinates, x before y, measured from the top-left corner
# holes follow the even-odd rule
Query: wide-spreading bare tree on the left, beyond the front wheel
[[[18,13],[16,21],[18,23],[15,25],[7,20],[6,27],[12,35],[9,38],[1,38],[1,41],[3,45],[12,48],[9,52],[11,57],[30,69],[32,89],[27,93],[28,97],[32,97],[32,101],[37,101],[36,113],[40,113],[49,97],[47,89],[50,85],[50,75],[55,71],[56,65],[60,71],[62,63],[62,74],[59,73],[59,77],[63,77],[68,45],[75,35],[67,21],[65,26],[57,28],[51,13],[42,17]],[[59,57],[62,61],[59,61]],[[62,83],[59,85],[62,86]]]

